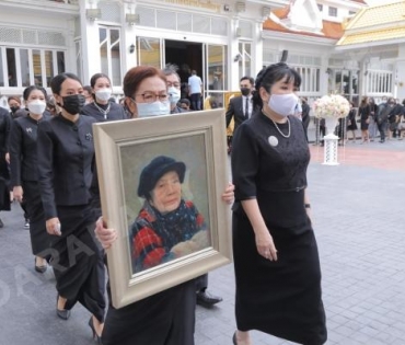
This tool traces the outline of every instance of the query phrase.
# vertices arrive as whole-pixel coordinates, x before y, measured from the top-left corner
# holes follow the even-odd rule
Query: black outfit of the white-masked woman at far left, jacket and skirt
[[[39,122],[49,119],[44,115]],[[49,254],[50,235],[46,231],[45,214],[40,199],[36,139],[38,120],[27,116],[18,117],[11,124],[10,169],[11,186],[22,186],[23,200],[30,218],[31,246],[34,255]]]

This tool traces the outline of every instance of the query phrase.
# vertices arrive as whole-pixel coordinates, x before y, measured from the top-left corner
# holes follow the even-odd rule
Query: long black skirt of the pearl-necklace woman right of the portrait
[[[258,254],[242,206],[233,211],[235,313],[240,331],[258,330],[305,345],[326,342],[321,267],[311,221],[300,193],[263,193],[258,204],[278,251]],[[274,219],[274,221],[271,221]]]

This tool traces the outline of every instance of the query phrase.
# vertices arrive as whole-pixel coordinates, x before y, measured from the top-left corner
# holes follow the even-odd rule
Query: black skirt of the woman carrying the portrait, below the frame
[[[103,345],[194,345],[195,309],[195,280],[120,309],[109,304]]]

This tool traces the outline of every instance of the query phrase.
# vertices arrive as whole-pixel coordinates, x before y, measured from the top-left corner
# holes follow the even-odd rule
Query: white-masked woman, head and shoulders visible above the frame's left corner
[[[113,90],[107,76],[96,73],[91,78],[90,84],[92,87],[94,102],[83,107],[83,115],[94,117],[97,123],[127,118],[124,108],[115,102],[109,101]]]

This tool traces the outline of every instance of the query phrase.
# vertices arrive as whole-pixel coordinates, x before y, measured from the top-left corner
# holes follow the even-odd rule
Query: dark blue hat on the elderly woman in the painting
[[[175,171],[178,174],[180,182],[183,183],[186,171],[186,165],[183,162],[177,162],[166,156],[154,158],[143,168],[140,174],[138,196],[149,197],[149,193],[154,188],[159,179],[170,171]]]

